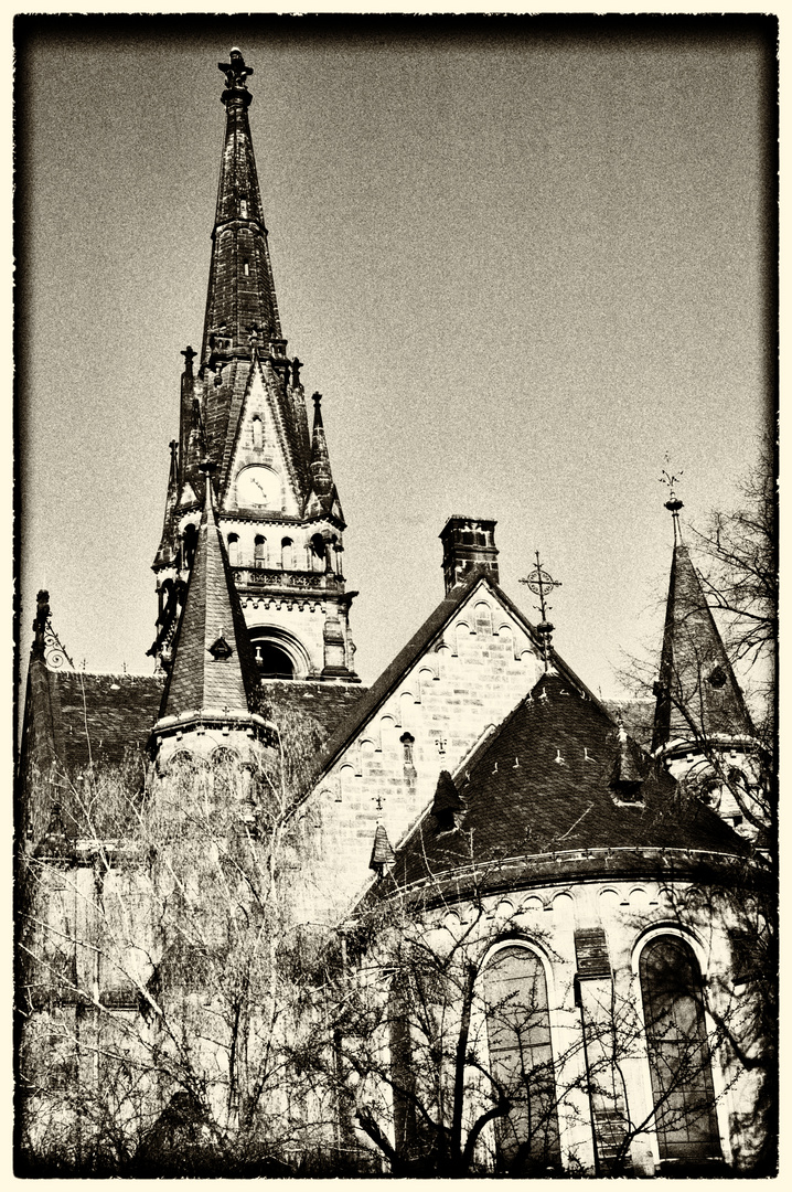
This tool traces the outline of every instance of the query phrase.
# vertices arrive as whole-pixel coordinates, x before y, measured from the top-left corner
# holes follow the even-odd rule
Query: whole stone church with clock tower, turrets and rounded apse
[[[672,492],[648,733],[565,663],[547,615],[532,623],[501,589],[497,524],[475,510],[437,526],[437,607],[363,687],[322,396],[308,410],[277,309],[252,68],[238,49],[219,66],[225,139],[204,331],[199,350],[181,353],[154,559],[155,672],[71,668],[54,628],[57,592],[54,611],[39,592],[33,626],[18,851],[38,911],[20,929],[19,979],[38,1042],[24,1045],[74,1036],[82,1058],[49,1092],[26,1086],[31,1137],[35,1123],[71,1122],[66,1110],[48,1118],[64,1082],[101,1084],[105,1060],[91,1067],[85,1054],[99,1055],[108,1023],[135,1037],[133,1055],[152,1054],[151,1007],[167,1000],[172,954],[164,929],[142,923],[142,852],[101,827],[107,776],[136,808],[131,838],[152,807],[170,824],[188,819],[192,795],[180,802],[180,791],[199,775],[214,812],[224,800],[218,814],[238,811],[251,849],[277,821],[279,921],[288,939],[341,942],[349,988],[366,988],[379,1024],[372,1058],[366,1041],[344,1050],[351,1028],[338,1020],[335,1067],[318,1067],[300,1105],[289,1101],[293,1126],[329,1113],[326,1146],[369,1174],[432,1171],[420,1163],[437,1161],[439,1137],[457,1174],[750,1171],[767,1095],[746,963],[761,919],[762,759],[682,541],[681,503]],[[538,558],[529,579],[544,607],[551,581]],[[201,901],[191,881],[211,935],[210,887]],[[129,924],[107,936],[113,890],[138,907],[139,936]],[[354,943],[362,923],[380,925],[366,929],[366,948]],[[405,940],[442,973],[432,1022],[453,1023],[448,1070],[426,1061],[424,986],[395,958]],[[449,994],[455,967],[467,975]],[[387,988],[373,976],[382,971],[397,974]],[[180,986],[189,1013],[200,1010],[195,973]],[[206,1076],[201,1112],[239,1135],[244,1097],[224,1100],[231,1061],[213,1063],[226,1067]],[[186,1078],[146,1081],[146,1120],[161,1122]]]

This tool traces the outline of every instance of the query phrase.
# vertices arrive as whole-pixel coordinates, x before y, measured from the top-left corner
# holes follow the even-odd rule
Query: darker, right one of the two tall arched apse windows
[[[660,1159],[721,1155],[701,973],[693,949],[660,936],[641,952],[641,995]]]

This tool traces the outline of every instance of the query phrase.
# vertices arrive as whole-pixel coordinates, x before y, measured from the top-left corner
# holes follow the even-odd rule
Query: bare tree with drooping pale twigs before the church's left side
[[[276,1172],[324,1129],[288,1068],[304,993],[283,963],[288,812],[313,737],[292,718],[267,765],[185,753],[143,788],[96,769],[61,784],[20,864],[32,1169]]]

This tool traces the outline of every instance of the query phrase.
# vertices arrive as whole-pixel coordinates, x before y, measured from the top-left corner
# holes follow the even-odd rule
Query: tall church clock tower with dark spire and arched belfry
[[[288,356],[248,123],[239,50],[218,63],[226,111],[200,354],[182,355],[180,434],[170,443],[160,600],[150,653],[167,671],[195,553],[208,458],[217,523],[261,678],[357,682],[343,530],[322,418],[308,426],[303,362]]]

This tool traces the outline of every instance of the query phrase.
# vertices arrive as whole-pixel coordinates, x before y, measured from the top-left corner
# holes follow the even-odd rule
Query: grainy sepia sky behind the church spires
[[[438,534],[535,551],[605,696],[660,650],[684,516],[774,410],[774,46],[715,18],[80,18],[18,26],[21,654],[149,673],[151,563],[200,347],[232,45],[289,354],[324,395],[373,682],[443,596]],[[768,57],[769,50],[769,57]],[[666,464],[669,457],[671,465]]]

